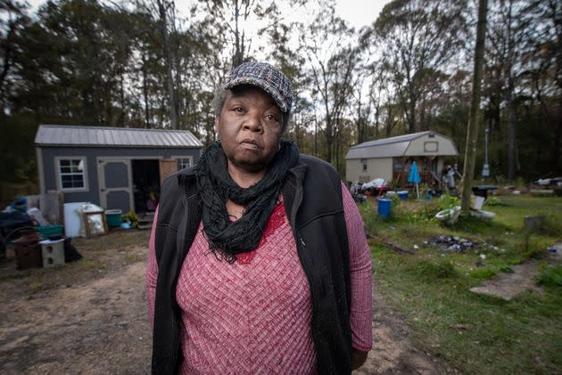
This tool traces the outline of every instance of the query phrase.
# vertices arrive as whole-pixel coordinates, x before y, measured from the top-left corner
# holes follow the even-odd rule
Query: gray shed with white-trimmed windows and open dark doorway
[[[152,211],[164,177],[199,161],[185,130],[40,125],[35,137],[41,193],[123,213]]]

